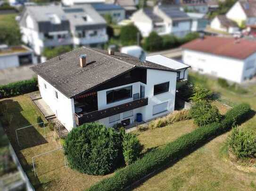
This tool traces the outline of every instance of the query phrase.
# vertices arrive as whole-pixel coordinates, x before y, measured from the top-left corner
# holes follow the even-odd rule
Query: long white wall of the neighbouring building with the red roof
[[[244,61],[210,53],[183,50],[182,60],[195,71],[233,82],[243,81]]]

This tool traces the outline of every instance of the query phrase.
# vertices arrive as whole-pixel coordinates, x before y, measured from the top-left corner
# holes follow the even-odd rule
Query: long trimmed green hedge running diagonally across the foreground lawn
[[[247,104],[241,104],[231,109],[223,122],[215,122],[198,128],[175,141],[167,144],[162,149],[149,152],[143,158],[136,160],[131,165],[118,170],[114,176],[104,179],[89,188],[89,191],[117,191],[136,182],[149,173],[164,167],[171,161],[181,158],[200,145],[231,128],[231,125],[243,121],[243,117],[250,112]]]

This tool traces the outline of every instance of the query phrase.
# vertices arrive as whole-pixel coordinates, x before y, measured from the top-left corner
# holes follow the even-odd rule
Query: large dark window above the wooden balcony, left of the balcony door
[[[107,91],[107,104],[132,98],[132,85],[117,90]]]

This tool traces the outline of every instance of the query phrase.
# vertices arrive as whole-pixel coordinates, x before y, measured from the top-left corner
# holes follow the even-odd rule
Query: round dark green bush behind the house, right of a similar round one
[[[161,50],[163,47],[163,38],[157,32],[150,32],[149,37],[144,39],[143,48],[149,52]]]

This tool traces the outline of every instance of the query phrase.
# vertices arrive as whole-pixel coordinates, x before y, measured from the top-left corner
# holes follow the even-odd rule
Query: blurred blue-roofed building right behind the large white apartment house
[[[107,14],[111,15],[112,21],[118,23],[125,19],[125,10],[119,5],[107,4],[107,3],[97,3],[92,4],[92,7],[102,15],[103,17]]]

